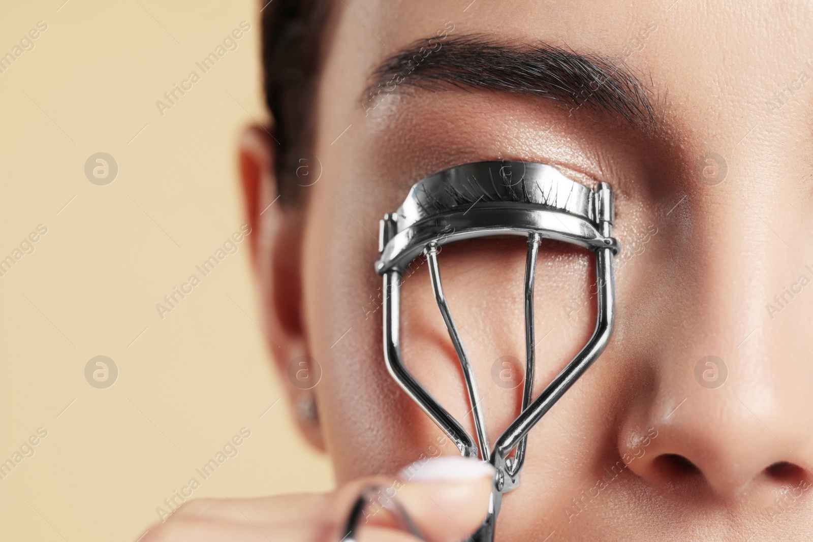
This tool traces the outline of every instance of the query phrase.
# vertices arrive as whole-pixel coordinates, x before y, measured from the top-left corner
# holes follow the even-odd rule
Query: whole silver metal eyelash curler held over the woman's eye
[[[489,514],[472,535],[472,542],[493,541],[502,495],[520,483],[528,431],[584,374],[610,338],[615,313],[613,258],[620,250],[619,242],[612,237],[613,215],[610,184],[600,183],[592,190],[568,179],[550,165],[502,161],[467,163],[428,176],[413,185],[402,206],[385,215],[380,222],[380,256],[375,262],[375,270],[384,280],[384,358],[389,374],[449,436],[463,456],[479,457],[494,466]],[[437,253],[442,245],[450,242],[494,235],[526,236],[528,255],[524,280],[522,409],[492,449],[472,366],[443,294]],[[542,239],[564,241],[593,251],[598,317],[587,344],[537,397],[531,397],[535,344],[533,287]],[[399,287],[402,273],[421,255],[427,258],[435,300],[463,369],[476,439],[412,377],[403,364],[399,346]],[[346,541],[355,540],[365,500],[365,496],[360,497],[350,514]],[[406,515],[400,508],[398,514]],[[411,525],[408,518],[404,520]],[[414,528],[410,531],[420,535]]]

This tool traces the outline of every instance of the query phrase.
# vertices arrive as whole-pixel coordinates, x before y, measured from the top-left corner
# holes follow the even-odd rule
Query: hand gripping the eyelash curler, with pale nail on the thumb
[[[393,496],[432,542],[464,540],[485,519],[493,468],[463,457],[436,457],[406,467],[398,478],[354,480],[331,493],[258,499],[198,499],[181,505],[142,542],[339,542],[350,509],[366,489],[374,501]],[[359,520],[359,539],[414,542],[394,527],[393,516],[373,502]]]

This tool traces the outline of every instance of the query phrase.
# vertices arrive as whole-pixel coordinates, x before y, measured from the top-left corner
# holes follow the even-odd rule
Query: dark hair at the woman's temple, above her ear
[[[308,159],[315,133],[315,90],[328,20],[327,0],[261,0],[265,101],[276,139],[280,203],[298,204],[300,159]]]

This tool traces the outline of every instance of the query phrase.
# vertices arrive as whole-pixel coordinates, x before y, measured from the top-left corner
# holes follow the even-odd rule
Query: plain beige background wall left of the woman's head
[[[0,73],[0,258],[44,224],[0,277],[0,462],[48,431],[0,479],[2,540],[136,540],[156,507],[248,427],[194,496],[331,486],[293,432],[256,323],[247,241],[164,319],[155,308],[243,219],[235,142],[264,119],[259,6],[157,0],[6,2],[0,54],[48,28]],[[210,72],[195,62],[242,20]],[[171,110],[155,102],[190,71]],[[91,184],[99,151],[119,166]],[[119,368],[91,387],[90,358]],[[66,408],[67,407],[67,408]],[[265,413],[265,414],[263,414]]]

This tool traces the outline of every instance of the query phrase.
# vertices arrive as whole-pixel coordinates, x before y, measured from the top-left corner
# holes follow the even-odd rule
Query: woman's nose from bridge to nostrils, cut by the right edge
[[[783,314],[766,304],[789,278],[798,282],[804,271],[813,279],[804,266],[813,257],[793,254],[763,224],[737,219],[748,209],[733,194],[693,200],[687,215],[694,227],[674,228],[680,239],[662,228],[650,254],[680,273],[653,284],[655,295],[633,297],[649,305],[640,313],[660,321],[639,324],[648,330],[649,346],[636,354],[648,384],[620,424],[621,457],[654,486],[723,498],[809,483],[813,289]],[[734,219],[711,223],[715,206],[734,209]],[[743,224],[754,231],[743,232]]]

